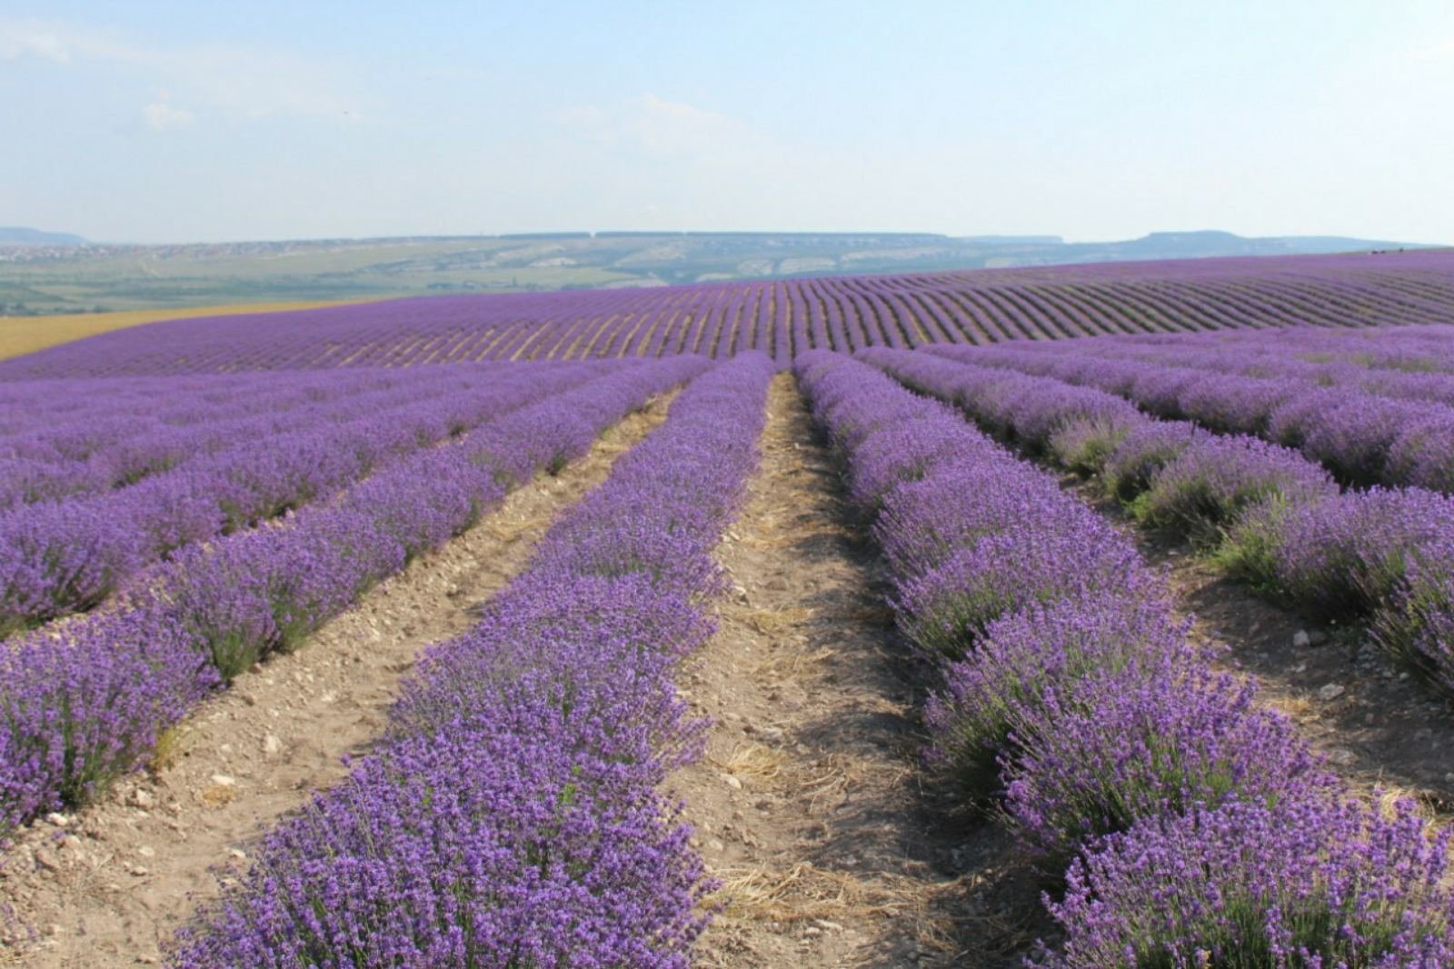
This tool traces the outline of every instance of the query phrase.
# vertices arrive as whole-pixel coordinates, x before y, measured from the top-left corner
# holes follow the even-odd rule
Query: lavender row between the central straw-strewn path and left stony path
[[[656,787],[701,725],[672,674],[711,630],[769,377],[747,355],[688,386],[174,965],[685,969],[707,883]]]

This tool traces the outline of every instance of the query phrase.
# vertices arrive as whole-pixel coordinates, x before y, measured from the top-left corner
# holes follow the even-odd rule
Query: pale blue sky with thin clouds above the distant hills
[[[1454,4],[0,6],[0,226],[1454,243]]]

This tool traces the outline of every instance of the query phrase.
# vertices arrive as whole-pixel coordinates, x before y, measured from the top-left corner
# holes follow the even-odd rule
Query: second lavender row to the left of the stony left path
[[[602,367],[451,368],[430,374],[426,393],[404,388],[393,407],[365,396],[334,412],[343,420],[244,438],[126,487],[0,514],[0,636],[92,608],[179,550],[321,501]]]

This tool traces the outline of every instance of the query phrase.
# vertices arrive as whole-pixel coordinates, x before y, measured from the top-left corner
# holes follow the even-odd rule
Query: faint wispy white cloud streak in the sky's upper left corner
[[[174,89],[179,100],[243,118],[356,121],[366,109],[352,70],[289,51],[225,44],[154,47],[70,25],[0,19],[0,58],[125,70]]]

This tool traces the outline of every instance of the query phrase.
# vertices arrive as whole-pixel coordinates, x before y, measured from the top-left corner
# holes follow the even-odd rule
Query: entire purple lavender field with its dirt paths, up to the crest
[[[1454,255],[0,362],[0,963],[1454,966]]]

